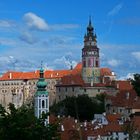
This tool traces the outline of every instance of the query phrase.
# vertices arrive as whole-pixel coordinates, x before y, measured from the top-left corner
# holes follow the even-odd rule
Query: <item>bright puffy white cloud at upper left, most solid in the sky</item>
[[[49,29],[48,24],[45,22],[45,20],[34,13],[29,12],[24,14],[23,19],[31,29],[40,31],[46,31]]]

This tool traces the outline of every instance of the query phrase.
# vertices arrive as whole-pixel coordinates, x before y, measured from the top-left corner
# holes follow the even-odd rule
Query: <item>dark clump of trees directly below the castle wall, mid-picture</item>
[[[98,95],[96,98],[89,98],[87,95],[67,97],[51,106],[50,112],[55,115],[70,115],[80,121],[91,120],[95,113],[104,112],[104,96]]]

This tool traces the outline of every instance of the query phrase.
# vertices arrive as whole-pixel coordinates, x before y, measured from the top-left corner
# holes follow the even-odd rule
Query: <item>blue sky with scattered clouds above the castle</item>
[[[101,67],[140,71],[139,0],[1,0],[0,72],[67,69],[81,61],[89,16]]]

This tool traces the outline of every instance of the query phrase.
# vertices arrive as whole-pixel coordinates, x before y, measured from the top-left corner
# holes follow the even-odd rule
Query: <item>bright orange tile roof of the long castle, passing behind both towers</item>
[[[82,63],[78,63],[73,70],[46,70],[45,78],[53,79],[53,78],[62,78],[66,75],[81,75],[82,72]],[[101,75],[110,75],[111,70],[109,68],[101,68]],[[0,80],[24,80],[24,79],[38,79],[39,78],[39,70],[33,72],[16,72],[16,71],[8,71],[4,73]]]

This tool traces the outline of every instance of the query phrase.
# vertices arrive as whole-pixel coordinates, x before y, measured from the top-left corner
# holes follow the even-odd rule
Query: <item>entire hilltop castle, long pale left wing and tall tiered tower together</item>
[[[37,91],[36,84],[40,71],[8,71],[0,77],[0,104],[8,107],[9,103],[20,107],[33,100]],[[49,104],[65,99],[67,96],[88,94],[90,97],[107,91],[115,94],[112,82],[115,74],[109,68],[100,67],[97,36],[89,20],[84,36],[82,63],[71,70],[45,70],[46,90],[49,93]]]

